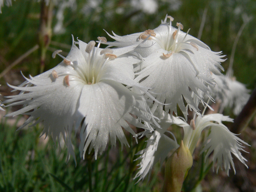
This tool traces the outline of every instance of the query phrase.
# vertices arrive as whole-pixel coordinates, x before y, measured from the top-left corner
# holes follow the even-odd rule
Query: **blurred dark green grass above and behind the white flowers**
[[[234,76],[238,81],[247,84],[248,88],[252,89],[256,84],[255,1],[159,0],[158,11],[154,14],[135,10],[130,6],[130,1],[125,0],[96,1],[101,2],[97,8],[85,9],[85,5],[88,7],[89,2],[77,0],[75,10],[71,8],[64,10],[65,33],[53,33],[50,45],[53,49],[47,52],[44,70],[53,68],[61,61],[60,58],[52,59],[54,49],[69,52],[66,47],[56,45],[56,42],[71,45],[71,34],[84,42],[97,40],[98,36],[107,36],[103,29],[109,33],[114,31],[117,35],[127,35],[156,28],[161,23],[161,19],[168,14],[174,18],[173,23],[181,22],[184,25],[184,31],[191,28],[189,34],[197,37],[204,9],[207,8],[201,40],[213,51],[222,51],[227,55],[228,60],[222,64],[225,69],[228,68],[235,37],[243,24],[242,15],[247,14],[252,17],[238,41],[233,68]],[[175,4],[180,4],[177,10],[173,10]],[[53,11],[56,13],[58,7]],[[40,3],[13,1],[12,7],[4,6],[2,12],[0,15],[0,72],[37,44]],[[56,23],[57,19],[54,16],[52,26],[54,27]],[[107,38],[111,41],[110,37]],[[26,76],[28,74],[36,76],[39,73],[39,62],[39,52],[36,51],[14,69],[22,70]],[[6,83],[4,78],[1,78],[0,83]]]

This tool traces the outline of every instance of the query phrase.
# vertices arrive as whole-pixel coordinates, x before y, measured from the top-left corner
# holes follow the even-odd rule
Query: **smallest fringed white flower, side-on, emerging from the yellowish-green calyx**
[[[167,157],[168,153],[172,153],[179,147],[176,139],[167,137],[164,132],[167,128],[176,124],[184,129],[184,146],[188,147],[190,153],[193,154],[196,144],[201,136],[201,132],[204,128],[210,127],[210,134],[204,143],[202,152],[207,151],[205,158],[207,158],[213,151],[213,163],[217,161],[217,172],[219,168],[222,169],[222,163],[224,169],[228,174],[230,164],[232,165],[234,172],[235,167],[231,153],[236,156],[246,167],[246,159],[241,155],[239,150],[244,151],[244,145],[248,145],[243,140],[239,139],[236,134],[230,132],[228,128],[222,124],[222,121],[233,122],[233,119],[222,114],[210,114],[204,117],[197,117],[196,120],[192,120],[190,125],[182,118],[171,117],[170,114],[165,112],[162,115],[162,119],[159,123],[161,128],[156,128],[155,132],[149,137],[146,149],[140,151],[141,155],[138,159],[142,159],[140,165],[140,171],[136,174],[136,177],[144,179],[145,176],[151,171],[152,167],[161,158],[161,164]],[[214,123],[216,122],[216,123]]]

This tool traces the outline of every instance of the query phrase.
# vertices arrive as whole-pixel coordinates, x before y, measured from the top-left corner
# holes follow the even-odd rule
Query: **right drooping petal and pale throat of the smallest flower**
[[[205,158],[207,158],[213,151],[213,163],[217,160],[217,172],[219,168],[222,169],[222,163],[224,169],[228,175],[230,164],[232,165],[234,172],[235,167],[233,163],[233,158],[231,153],[236,156],[239,161],[241,161],[246,167],[246,159],[241,155],[239,150],[244,151],[244,145],[248,145],[243,140],[239,139],[236,134],[230,132],[228,128],[222,124],[222,121],[233,122],[233,119],[228,116],[223,116],[222,114],[210,114],[205,115],[203,118],[197,117],[196,120],[189,126],[184,126],[184,145],[186,145],[191,154],[196,148],[196,144],[200,138],[201,132],[204,128],[210,127],[210,134],[206,139],[205,145],[202,152],[207,151]],[[216,123],[214,123],[216,122]],[[248,145],[249,146],[249,145]]]

